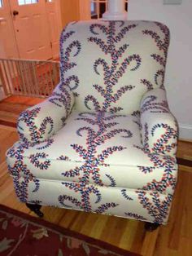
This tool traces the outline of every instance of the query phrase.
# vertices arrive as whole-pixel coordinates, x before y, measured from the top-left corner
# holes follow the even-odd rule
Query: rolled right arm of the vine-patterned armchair
[[[175,156],[177,121],[168,108],[165,90],[157,88],[143,96],[141,126],[142,143],[146,152]]]

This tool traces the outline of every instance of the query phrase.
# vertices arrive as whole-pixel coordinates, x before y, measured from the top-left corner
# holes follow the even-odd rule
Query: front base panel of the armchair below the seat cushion
[[[47,179],[38,179],[40,185],[29,182],[26,190],[26,178],[14,176],[13,179],[20,201],[27,200],[31,203],[91,211],[96,214],[111,214],[151,223],[167,223],[172,202],[171,194],[156,191],[90,184],[81,187],[78,183],[53,182]]]

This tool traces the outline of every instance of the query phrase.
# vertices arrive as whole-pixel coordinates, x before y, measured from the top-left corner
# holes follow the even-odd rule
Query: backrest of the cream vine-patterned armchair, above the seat
[[[168,45],[155,21],[72,22],[60,38],[61,81],[78,110],[135,113],[147,90],[164,88]]]

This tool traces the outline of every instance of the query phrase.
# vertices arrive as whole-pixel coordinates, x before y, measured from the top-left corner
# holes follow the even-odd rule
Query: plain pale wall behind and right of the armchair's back
[[[168,25],[165,87],[172,113],[177,117],[181,139],[192,139],[192,1],[164,5],[164,0],[129,0],[129,20],[157,20]]]

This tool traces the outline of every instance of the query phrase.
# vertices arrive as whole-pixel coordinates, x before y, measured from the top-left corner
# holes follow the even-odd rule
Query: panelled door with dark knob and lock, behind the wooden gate
[[[52,58],[46,0],[11,0],[10,6],[20,58]]]

